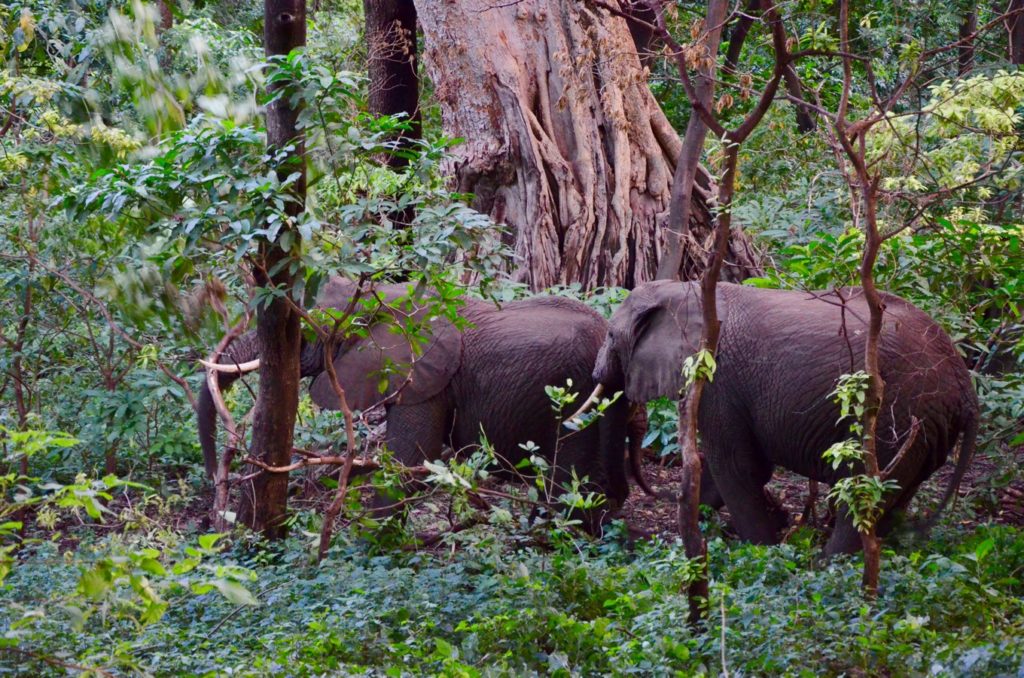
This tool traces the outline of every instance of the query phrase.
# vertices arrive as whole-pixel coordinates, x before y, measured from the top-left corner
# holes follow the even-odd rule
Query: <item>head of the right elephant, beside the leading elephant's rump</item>
[[[634,402],[678,397],[685,386],[683,361],[697,351],[701,325],[697,284],[659,281],[638,288],[611,317],[594,380]]]

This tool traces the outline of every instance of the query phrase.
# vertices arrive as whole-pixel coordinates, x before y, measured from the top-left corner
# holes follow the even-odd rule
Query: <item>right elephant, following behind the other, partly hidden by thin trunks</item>
[[[706,461],[701,498],[721,497],[741,539],[771,544],[786,522],[764,490],[775,466],[829,484],[851,473],[846,464],[833,468],[822,453],[852,435],[829,394],[841,375],[863,369],[868,308],[859,288],[800,292],[720,283],[717,290],[717,367],[697,419]],[[962,438],[940,510],[948,503],[978,431],[978,398],[949,337],[904,299],[884,293],[883,301],[885,389],[877,428],[883,469],[907,439],[911,418],[920,429],[892,469],[899,489],[885,500],[880,535]],[[678,397],[685,386],[681,366],[699,346],[701,309],[698,283],[638,286],[609,323],[594,367],[598,388],[623,390],[638,402]],[[840,513],[826,555],[860,546],[851,516]]]

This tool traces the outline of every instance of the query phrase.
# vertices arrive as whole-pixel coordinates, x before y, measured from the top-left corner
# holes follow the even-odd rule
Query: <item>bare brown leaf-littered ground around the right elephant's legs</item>
[[[956,517],[964,527],[980,523],[1024,525],[1024,476],[1013,473],[1024,466],[1024,447],[993,459],[992,455],[979,455],[968,468],[957,493]],[[933,510],[953,473],[952,460],[923,483],[910,506],[912,513],[922,509]],[[665,465],[652,456],[644,462],[644,473],[651,488],[656,492],[675,492],[680,483],[681,470],[676,465]],[[1016,476],[1016,478],[1015,478]],[[1015,478],[1015,479],[1014,479]],[[808,501],[809,483],[803,476],[783,469],[777,469],[768,490],[785,507],[793,524],[805,522],[803,512]],[[820,486],[810,522],[812,526],[823,527],[828,520],[825,501],[827,486]],[[676,505],[665,499],[648,497],[639,488],[633,488],[623,510],[623,518],[633,529],[641,534],[671,537],[676,534]],[[728,525],[728,510],[722,509],[714,524],[728,536],[734,533]]]

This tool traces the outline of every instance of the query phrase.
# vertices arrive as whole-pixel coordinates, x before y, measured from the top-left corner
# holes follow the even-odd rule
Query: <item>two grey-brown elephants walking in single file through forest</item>
[[[415,466],[436,459],[444,447],[471,449],[482,432],[506,472],[537,454],[548,461],[556,485],[574,474],[585,480],[585,489],[603,493],[607,501],[601,508],[583,516],[592,532],[629,495],[627,457],[634,477],[649,492],[639,472],[637,418],[646,401],[678,397],[685,386],[681,366],[696,352],[701,336],[698,285],[641,285],[610,322],[581,302],[538,296],[501,305],[466,300],[459,309],[463,322],[454,323],[436,314],[429,295],[410,299],[409,287],[377,286],[374,320],[340,342],[333,356],[350,408],[384,404],[385,443],[398,462]],[[335,279],[317,305],[348,308],[355,293],[354,284]],[[885,295],[884,302],[880,465],[885,468],[901,451],[914,420],[918,432],[891,471],[899,489],[885,500],[880,534],[963,440],[943,504],[948,501],[973,454],[978,428],[970,373],[949,337],[903,299]],[[716,507],[724,502],[740,538],[774,543],[786,522],[765,495],[774,467],[829,484],[851,472],[834,468],[822,452],[850,436],[849,422],[841,421],[829,393],[841,375],[863,369],[868,310],[857,289],[797,292],[724,283],[718,286],[718,309],[717,368],[698,416],[706,459],[701,500]],[[418,324],[418,336],[397,332],[396,316]],[[251,332],[211,369],[224,388],[241,372],[255,369],[258,357]],[[324,345],[305,341],[300,362],[302,376],[312,378],[313,402],[339,409],[326,374]],[[581,394],[603,389],[622,396],[595,424],[572,431],[562,426],[569,406],[554,412],[545,389],[568,380]],[[197,414],[212,474],[217,415],[206,383]],[[377,500],[381,509],[387,502]],[[859,544],[851,517],[841,511],[825,552],[852,552]]]

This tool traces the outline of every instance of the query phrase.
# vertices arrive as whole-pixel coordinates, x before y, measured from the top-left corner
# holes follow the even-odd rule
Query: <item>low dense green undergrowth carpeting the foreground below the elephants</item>
[[[489,528],[433,553],[338,544],[319,565],[299,540],[273,550],[237,543],[211,556],[218,566],[254,573],[258,605],[216,592],[186,595],[147,625],[113,613],[110,598],[109,606],[96,598],[90,616],[61,605],[81,587],[87,563],[133,539],[83,543],[74,559],[54,543],[26,553],[4,586],[0,618],[7,626],[32,610],[39,616],[19,631],[26,651],[0,653],[0,670],[62,674],[56,662],[161,675],[1024,669],[1024,533],[1016,527],[947,528],[927,544],[887,552],[874,603],[862,597],[859,559],[819,560],[810,531],[771,548],[718,539],[711,543],[712,613],[699,632],[686,624],[680,591],[690,570],[678,544],[631,549],[615,537],[584,544],[562,534],[538,548]]]

